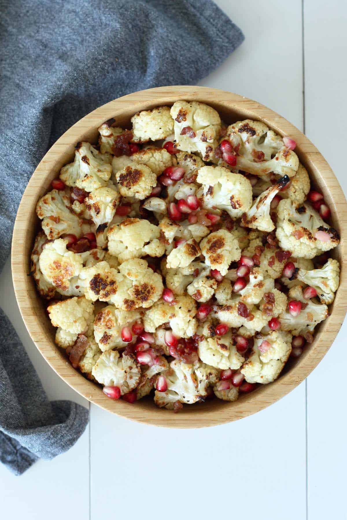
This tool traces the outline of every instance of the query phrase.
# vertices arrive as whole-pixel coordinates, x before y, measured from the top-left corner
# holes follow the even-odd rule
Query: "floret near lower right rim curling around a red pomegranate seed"
[[[313,300],[305,300],[302,295],[301,285],[295,285],[289,289],[288,301],[301,302],[302,308],[298,316],[292,316],[289,310],[279,315],[282,330],[291,331],[298,336],[306,332],[313,332],[315,326],[329,316],[328,307]]]

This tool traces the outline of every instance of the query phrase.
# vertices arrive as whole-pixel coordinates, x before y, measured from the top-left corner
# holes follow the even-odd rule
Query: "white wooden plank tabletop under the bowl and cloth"
[[[279,112],[314,142],[347,191],[345,1],[216,3],[246,41],[201,84]],[[30,340],[9,262],[0,294],[49,397],[88,407]],[[345,334],[346,323],[324,360],[291,394],[236,423],[166,430],[92,405],[89,426],[68,453],[38,461],[20,477],[0,465],[1,517],[345,519]]]

